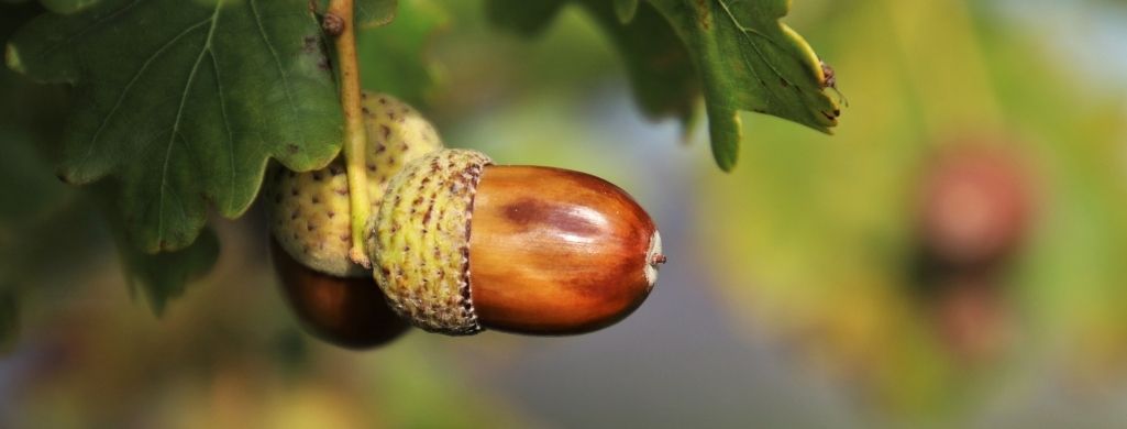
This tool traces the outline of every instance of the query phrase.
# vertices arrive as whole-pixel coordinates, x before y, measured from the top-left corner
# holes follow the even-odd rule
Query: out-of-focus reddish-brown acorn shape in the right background
[[[912,287],[935,335],[961,364],[1005,349],[1006,273],[1033,217],[1029,169],[1005,139],[971,135],[928,156],[916,195]]]

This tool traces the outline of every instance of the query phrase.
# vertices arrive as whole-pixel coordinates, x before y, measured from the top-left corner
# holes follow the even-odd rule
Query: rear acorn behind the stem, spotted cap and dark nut
[[[362,99],[373,211],[391,177],[408,161],[442,147],[434,126],[384,94]],[[307,332],[326,342],[366,349],[398,338],[410,325],[392,312],[371,273],[348,257],[350,190],[341,158],[305,173],[278,169],[267,182],[270,254],[283,296]]]

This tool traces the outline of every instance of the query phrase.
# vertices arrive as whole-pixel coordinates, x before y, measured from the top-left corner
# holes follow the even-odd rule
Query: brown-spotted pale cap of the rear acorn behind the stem
[[[394,97],[365,93],[362,106],[367,193],[374,212],[391,177],[410,160],[441,149],[442,141],[426,119]],[[337,277],[370,275],[348,257],[350,203],[343,157],[313,172],[278,169],[267,186],[270,229],[290,256]]]

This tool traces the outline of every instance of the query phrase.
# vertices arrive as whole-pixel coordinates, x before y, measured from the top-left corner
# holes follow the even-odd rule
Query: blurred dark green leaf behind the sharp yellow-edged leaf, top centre
[[[649,5],[638,5],[629,24],[622,24],[616,5],[605,0],[541,1],[535,8],[524,8],[520,0],[490,0],[487,12],[495,25],[532,36],[568,1],[579,3],[614,43],[642,112],[653,119],[676,116],[687,129],[700,97],[693,60],[668,21]]]

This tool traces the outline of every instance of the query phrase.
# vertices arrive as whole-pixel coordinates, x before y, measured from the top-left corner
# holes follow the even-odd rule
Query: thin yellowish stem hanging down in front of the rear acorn
[[[348,202],[352,212],[353,262],[370,268],[371,261],[364,249],[364,224],[372,211],[367,196],[367,170],[364,154],[367,135],[364,131],[364,114],[361,110],[360,65],[356,63],[356,36],[353,29],[353,0],[332,0],[326,12],[327,19],[339,19],[344,25],[334,34],[337,49],[337,69],[340,72],[340,106],[345,114],[345,166],[348,174]]]

